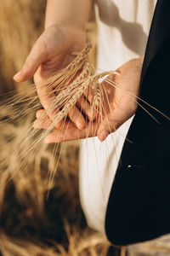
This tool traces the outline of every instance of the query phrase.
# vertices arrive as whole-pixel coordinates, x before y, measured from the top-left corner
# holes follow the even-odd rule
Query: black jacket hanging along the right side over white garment
[[[140,97],[170,116],[170,1],[158,0],[150,26]],[[170,233],[170,120],[138,108],[108,202],[105,231],[115,245]]]

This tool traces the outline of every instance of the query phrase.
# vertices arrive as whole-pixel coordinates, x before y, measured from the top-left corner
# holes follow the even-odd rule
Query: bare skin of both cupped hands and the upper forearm
[[[73,59],[71,53],[82,50],[85,45],[85,26],[91,4],[92,0],[48,0],[45,30],[31,49],[31,53],[26,58],[20,72],[14,76],[14,80],[21,82],[34,76],[37,85],[54,75],[59,69],[67,66]],[[120,84],[122,90],[111,86],[107,81],[103,82],[104,93],[107,94],[109,103],[105,96],[106,111],[102,122],[97,123],[94,118],[92,118],[92,122],[88,122],[78,110],[82,108],[88,117],[92,116],[89,106],[91,95],[88,93],[86,97],[81,97],[77,106],[71,108],[68,115],[71,122],[61,121],[44,142],[59,143],[96,135],[100,141],[104,141],[112,131],[116,131],[136,111],[137,103],[132,100],[132,96],[130,97],[127,92],[133,96],[139,95],[142,64],[143,57],[139,57],[119,67],[117,69],[119,74],[111,74],[109,79]],[[37,86],[37,94],[44,108],[44,110],[37,112],[37,118],[43,111],[48,111],[48,107],[53,100],[51,99],[54,96],[53,90],[47,89],[47,92],[50,96],[42,96]],[[39,123],[36,120],[34,127],[48,129],[52,121],[53,113],[48,113],[45,122]]]

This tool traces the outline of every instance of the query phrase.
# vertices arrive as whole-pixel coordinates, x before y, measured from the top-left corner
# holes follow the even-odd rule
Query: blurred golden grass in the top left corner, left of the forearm
[[[42,32],[45,1],[6,0],[0,3],[0,90],[23,90],[25,84],[13,81],[13,75],[22,67],[32,45]]]

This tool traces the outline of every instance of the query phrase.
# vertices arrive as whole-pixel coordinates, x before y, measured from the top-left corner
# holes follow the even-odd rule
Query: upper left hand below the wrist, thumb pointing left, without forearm
[[[53,76],[59,69],[66,67],[74,58],[71,54],[81,51],[85,43],[85,32],[77,26],[70,24],[49,26],[37,39],[24,66],[19,73],[15,74],[14,80],[22,82],[34,76],[40,102],[48,113],[48,108],[53,102],[53,88],[47,86],[42,93],[38,84]],[[48,115],[53,120],[53,113],[48,113]],[[71,108],[69,118],[79,129],[86,125],[82,113],[76,106]]]

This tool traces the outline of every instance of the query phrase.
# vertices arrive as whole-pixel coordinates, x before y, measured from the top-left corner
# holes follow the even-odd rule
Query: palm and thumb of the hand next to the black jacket
[[[108,79],[104,81],[109,104],[105,99],[105,119],[97,132],[100,141],[104,141],[112,131],[116,131],[136,112],[143,61],[143,56],[127,61],[116,70],[117,74],[111,74],[108,79],[113,80],[118,86],[112,86]]]

